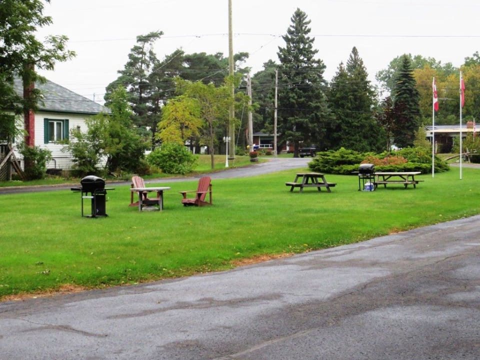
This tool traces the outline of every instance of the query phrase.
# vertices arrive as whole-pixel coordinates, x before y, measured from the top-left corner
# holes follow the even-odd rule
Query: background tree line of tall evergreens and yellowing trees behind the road
[[[459,69],[451,63],[442,64],[431,57],[402,54],[376,74],[381,84],[381,88],[376,88],[368,80],[358,49],[353,47],[346,63],[340,62],[328,82],[323,77],[325,65],[316,57],[318,50],[314,47],[314,38],[309,36],[309,24],[306,13],[296,9],[282,36],[285,45],[278,48],[278,62],[266,61],[263,69],[251,77],[254,105],[247,108],[244,98],[237,99],[236,126],[241,134],[237,141],[239,151],[243,151],[247,144],[248,109],[253,111],[254,131],[273,133],[276,71],[278,147],[281,148],[286,141],[293,143],[295,155],[299,146],[306,143],[316,144],[321,149],[346,147],[358,151],[381,151],[389,149],[392,144],[399,147],[412,145],[418,128],[431,121],[433,76],[440,97],[437,123],[457,122]],[[221,53],[186,54],[178,49],[159,60],[152,47],[161,34],[152,32],[137,37],[129,61],[118,71],[119,77],[107,86],[106,105],[111,91],[121,85],[130,95],[134,123],[150,130],[153,146],[168,139],[196,147],[206,144],[210,152],[220,151],[221,138],[227,131],[227,114],[218,112],[214,128],[208,132],[211,121],[201,114],[196,118],[192,116],[195,104],[185,102],[183,88],[190,82],[205,86],[213,84],[218,89],[225,86],[228,59]],[[238,94],[246,87],[245,74],[249,69],[242,64],[247,57],[247,53],[234,56],[238,76],[229,81],[236,81]],[[461,69],[468,88],[464,115],[466,119],[474,118],[480,111],[475,96],[480,91],[477,85],[480,76],[478,52],[466,57]],[[224,96],[228,96],[225,91]],[[183,99],[181,103],[179,99]],[[193,100],[198,101],[198,97]],[[180,121],[181,116],[184,121]],[[176,134],[174,138],[173,133]],[[209,137],[212,141],[208,140]]]

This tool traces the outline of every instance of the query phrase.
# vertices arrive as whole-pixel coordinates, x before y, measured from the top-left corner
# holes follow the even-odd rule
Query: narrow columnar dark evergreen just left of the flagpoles
[[[396,114],[393,140],[398,147],[413,145],[415,131],[418,129],[420,105],[416,81],[408,55],[401,57],[400,66],[395,74],[392,91],[393,109]]]

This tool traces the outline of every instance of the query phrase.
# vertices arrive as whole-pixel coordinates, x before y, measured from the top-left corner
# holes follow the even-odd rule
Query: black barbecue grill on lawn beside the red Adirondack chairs
[[[83,216],[83,200],[90,199],[91,214],[87,217],[108,216],[106,214],[106,190],[113,188],[105,187],[105,180],[95,175],[88,175],[80,180],[81,187],[72,187],[72,191],[81,192],[81,215]]]

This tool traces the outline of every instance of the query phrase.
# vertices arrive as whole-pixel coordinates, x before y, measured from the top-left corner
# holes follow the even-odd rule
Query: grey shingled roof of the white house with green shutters
[[[20,79],[14,81],[15,91],[18,95],[23,94],[23,85]],[[97,114],[100,112],[111,113],[108,107],[100,105],[82,95],[52,81],[35,83],[43,95],[43,101],[38,103],[38,110],[48,112],[68,112],[78,114]]]

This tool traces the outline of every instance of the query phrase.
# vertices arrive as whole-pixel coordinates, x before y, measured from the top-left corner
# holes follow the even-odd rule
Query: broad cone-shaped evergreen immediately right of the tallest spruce
[[[383,138],[372,113],[375,92],[363,60],[353,47],[346,63],[340,63],[330,83],[329,104],[335,119],[329,138],[333,148],[372,151],[382,147]]]

